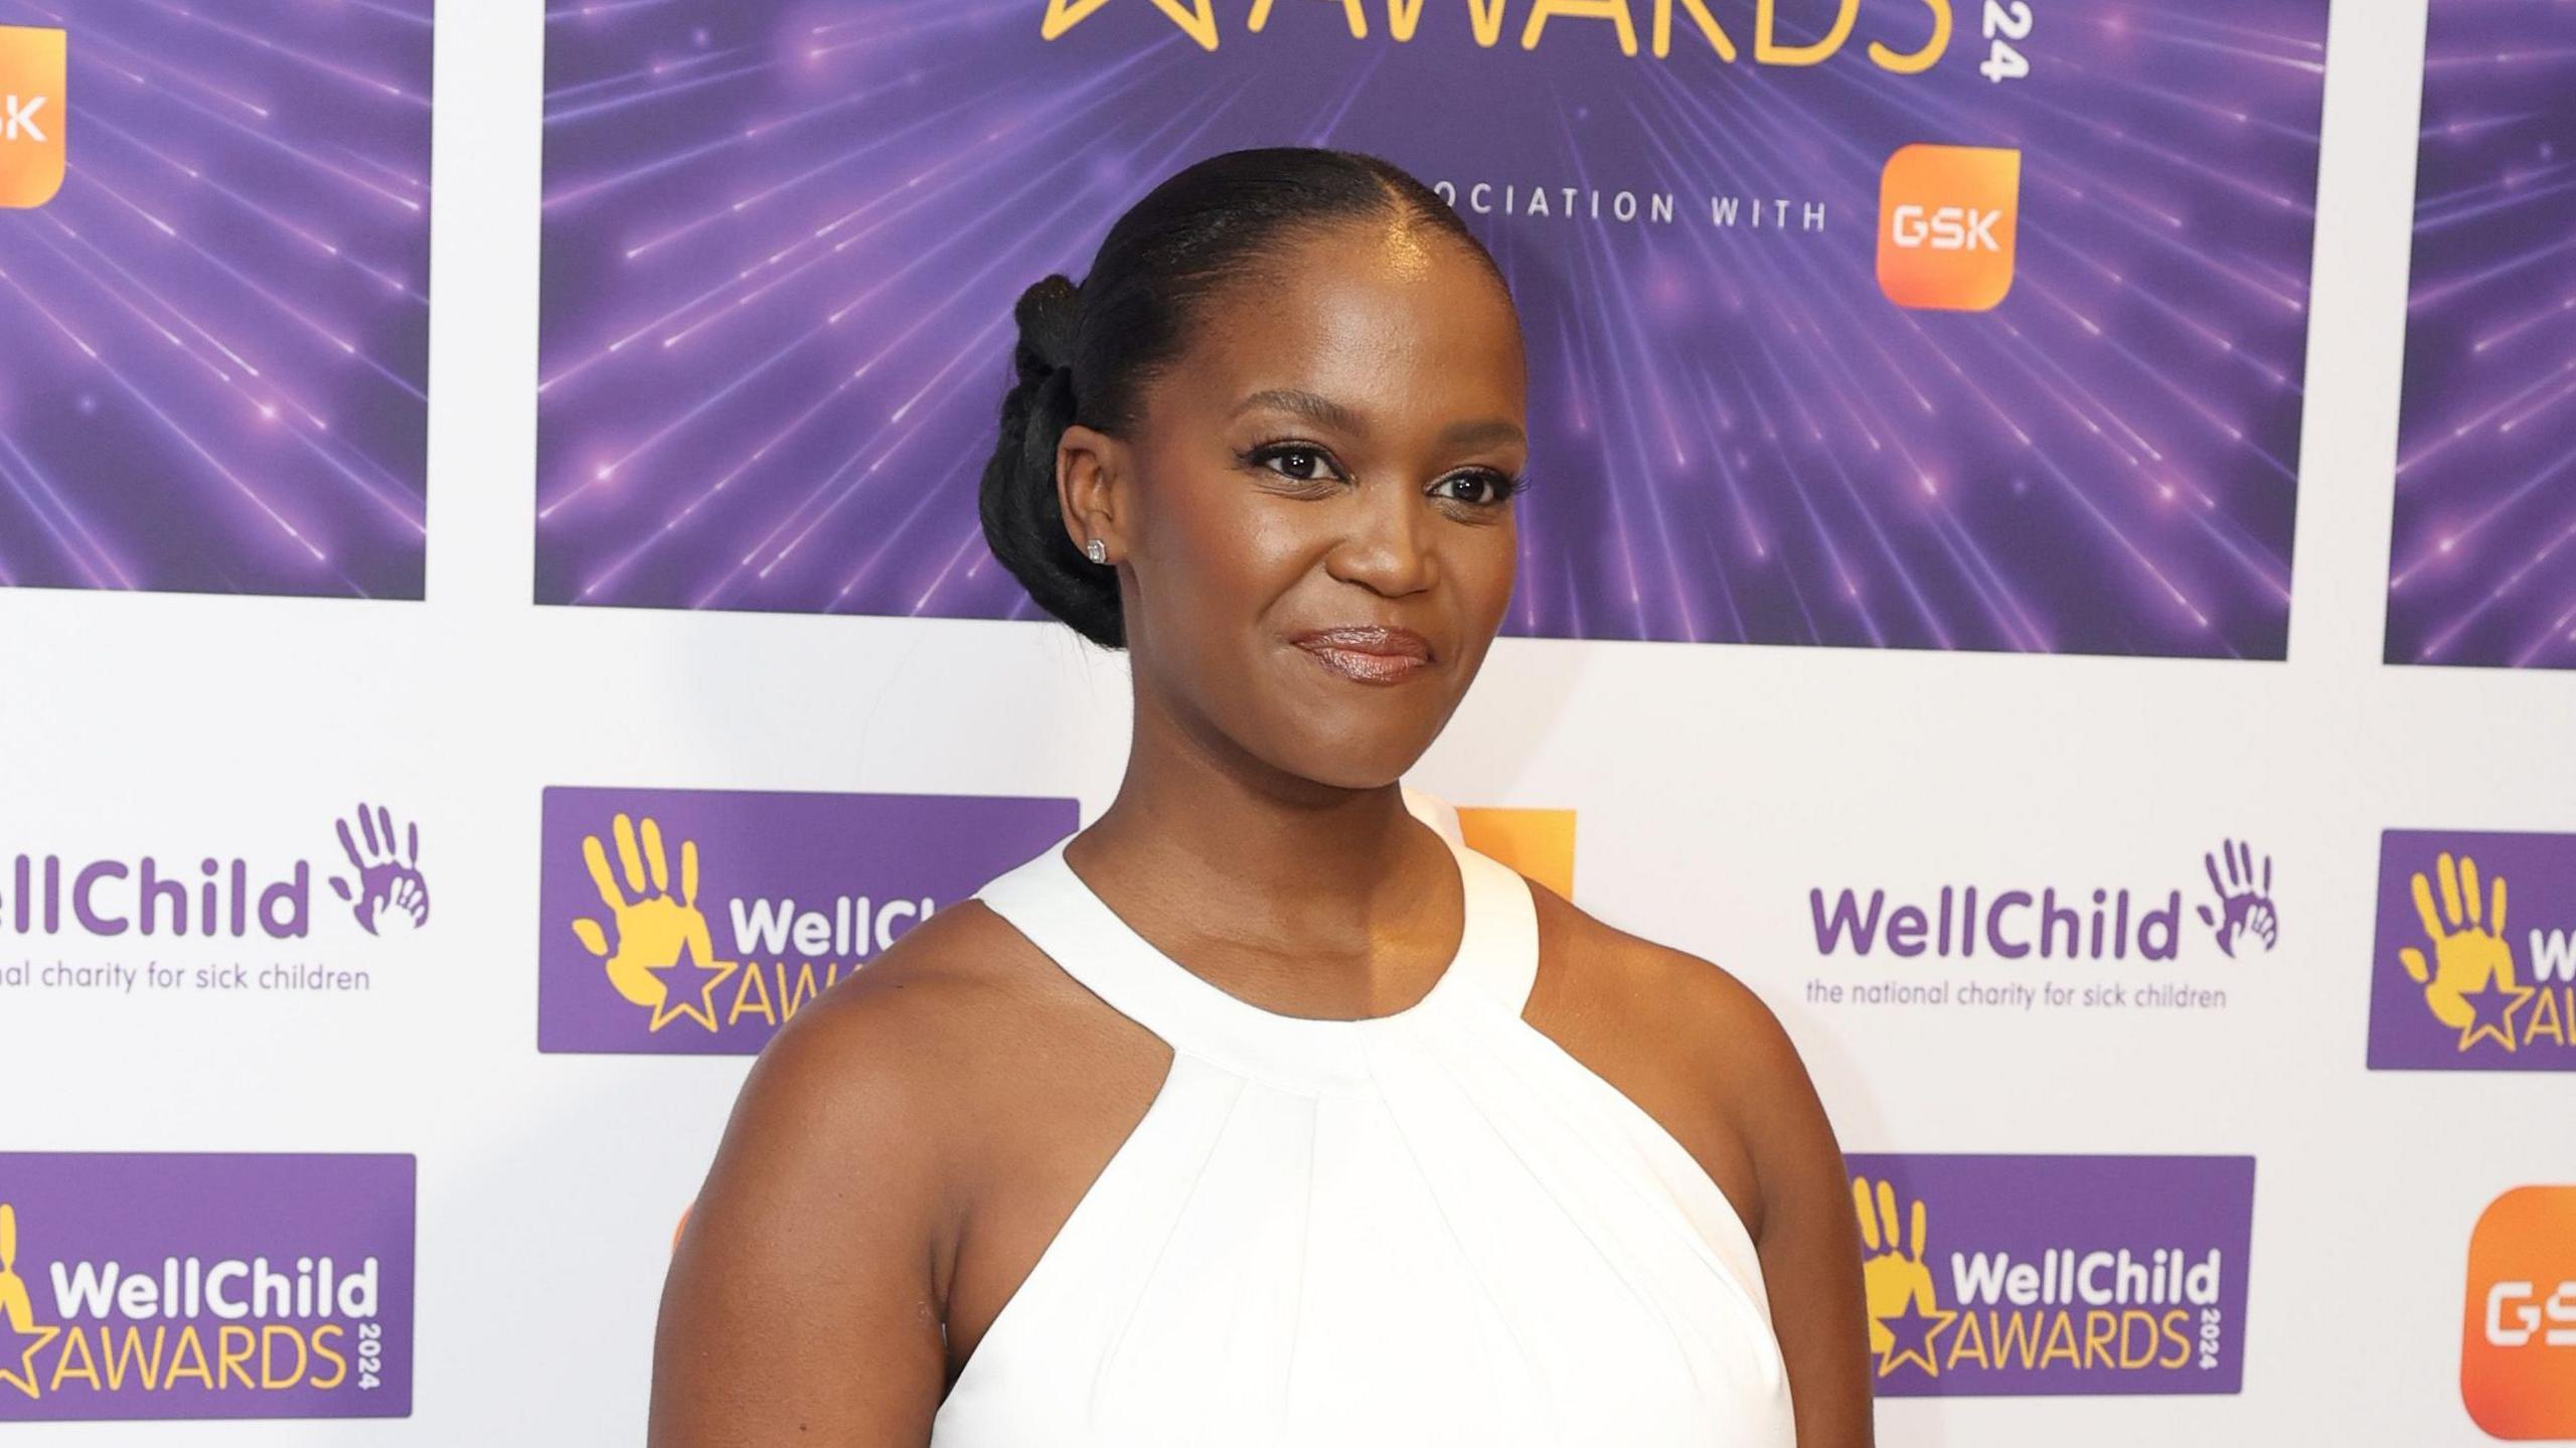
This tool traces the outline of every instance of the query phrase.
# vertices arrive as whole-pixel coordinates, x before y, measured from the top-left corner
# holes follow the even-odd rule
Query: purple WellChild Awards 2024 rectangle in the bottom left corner
[[[412,1157],[0,1154],[0,1422],[407,1417]]]

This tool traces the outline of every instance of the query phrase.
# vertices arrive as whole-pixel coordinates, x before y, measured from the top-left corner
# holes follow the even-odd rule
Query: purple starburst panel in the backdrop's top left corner
[[[0,0],[70,175],[0,211],[0,582],[420,598],[433,0]]]

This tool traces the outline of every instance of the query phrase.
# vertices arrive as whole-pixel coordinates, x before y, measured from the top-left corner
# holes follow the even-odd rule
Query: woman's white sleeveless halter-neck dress
[[[1734,1206],[1520,1018],[1528,881],[1445,804],[1406,806],[1458,858],[1466,935],[1394,1015],[1216,989],[1064,840],[979,891],[1172,1069],[976,1345],[935,1448],[1795,1445]]]

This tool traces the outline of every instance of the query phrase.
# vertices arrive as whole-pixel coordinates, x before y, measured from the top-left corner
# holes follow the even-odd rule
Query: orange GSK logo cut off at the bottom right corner
[[[2478,1216],[2460,1402],[2496,1438],[2576,1438],[2576,1188],[2514,1188]]]

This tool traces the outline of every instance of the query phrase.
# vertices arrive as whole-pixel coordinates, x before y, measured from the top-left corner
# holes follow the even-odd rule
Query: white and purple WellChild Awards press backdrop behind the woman
[[[2576,1438],[2576,5],[1620,13],[0,0],[0,1422],[639,1440],[750,1054],[1118,783],[1010,299],[1329,142],[1530,322],[1409,783],[1788,1023],[1880,1440]]]

